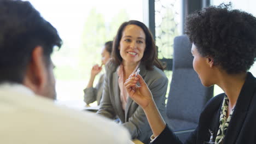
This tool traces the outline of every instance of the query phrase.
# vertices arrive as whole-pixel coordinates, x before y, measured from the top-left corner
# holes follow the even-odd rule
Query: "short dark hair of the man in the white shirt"
[[[43,47],[46,66],[53,47],[61,47],[56,29],[30,2],[0,1],[0,82],[22,83],[36,46]]]

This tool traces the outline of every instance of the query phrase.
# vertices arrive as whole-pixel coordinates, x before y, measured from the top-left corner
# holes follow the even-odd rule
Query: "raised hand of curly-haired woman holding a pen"
[[[141,85],[140,87],[136,85],[137,82],[139,82]],[[137,77],[135,77],[135,74],[131,74],[125,81],[124,86],[131,99],[140,105],[142,109],[146,109],[146,107],[152,103],[152,93],[150,92],[147,83],[143,80],[141,75],[137,75]]]

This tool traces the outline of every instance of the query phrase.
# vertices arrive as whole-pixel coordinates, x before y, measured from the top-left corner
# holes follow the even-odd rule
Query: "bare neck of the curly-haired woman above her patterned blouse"
[[[241,74],[222,74],[219,77],[221,80],[217,85],[223,89],[225,94],[229,98],[229,107],[233,109],[236,105],[236,101],[241,92],[243,84],[245,83],[247,73]]]

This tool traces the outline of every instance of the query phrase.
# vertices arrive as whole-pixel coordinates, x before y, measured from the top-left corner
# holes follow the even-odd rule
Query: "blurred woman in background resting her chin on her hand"
[[[84,102],[88,105],[90,103],[93,103],[94,101],[97,101],[97,104],[100,105],[105,74],[102,74],[100,76],[100,80],[98,80],[96,87],[93,87],[94,80],[96,75],[101,72],[102,65],[106,65],[106,63],[109,61],[112,52],[112,45],[113,41],[107,41],[104,44],[104,47],[101,52],[101,66],[95,64],[91,69],[90,80],[88,82],[87,87],[84,89]]]

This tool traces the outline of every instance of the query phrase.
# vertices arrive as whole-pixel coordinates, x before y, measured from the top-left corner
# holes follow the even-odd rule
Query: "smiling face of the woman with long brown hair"
[[[137,65],[146,48],[146,35],[137,25],[127,25],[120,40],[120,55],[123,65]]]

